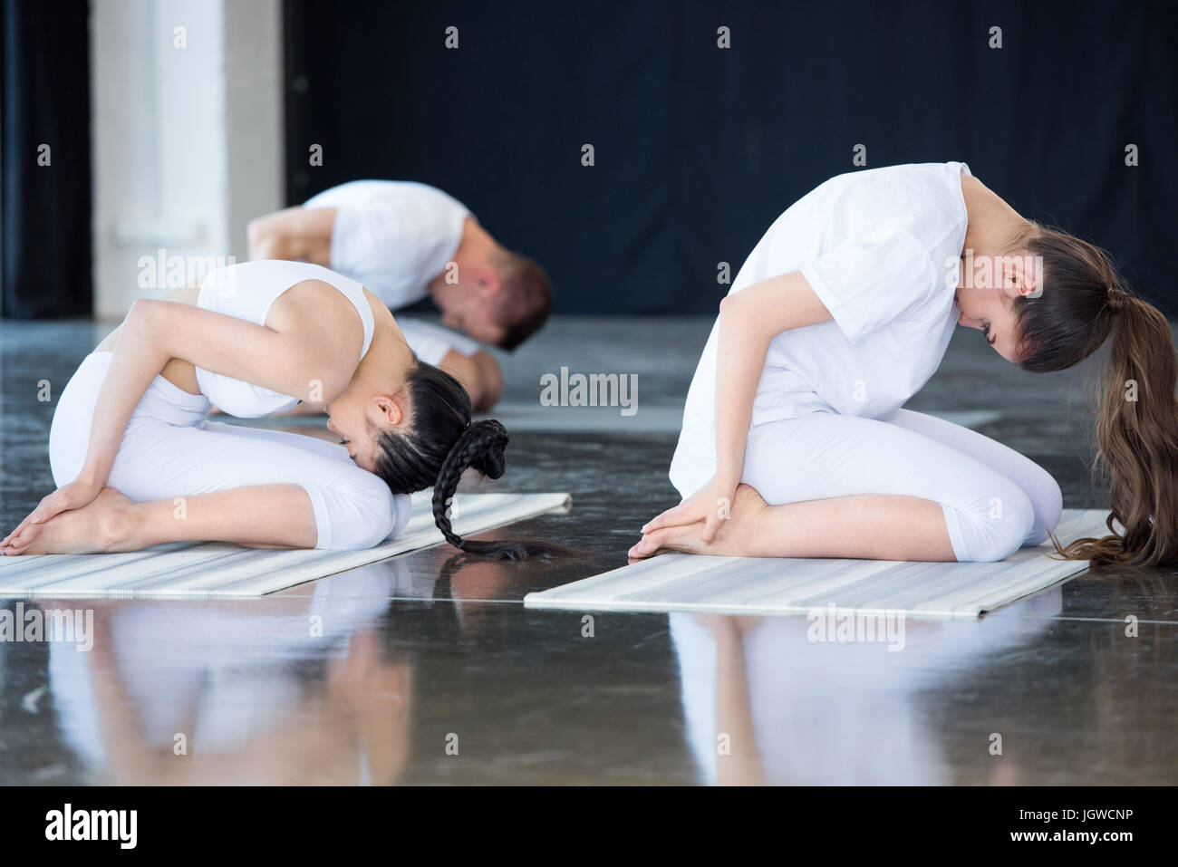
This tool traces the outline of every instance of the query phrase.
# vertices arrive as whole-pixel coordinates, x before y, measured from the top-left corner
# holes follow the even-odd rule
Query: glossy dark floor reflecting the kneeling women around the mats
[[[503,356],[503,415],[528,421],[504,478],[468,489],[571,491],[570,514],[489,534],[558,540],[567,558],[434,548],[260,600],[0,601],[0,783],[1178,782],[1173,570],[909,621],[899,653],[813,641],[805,616],[524,609],[623,564],[674,502],[666,419],[709,327],[563,319]],[[55,397],[104,330],[0,323],[5,527],[49,490],[39,392]],[[634,418],[662,421],[602,428],[568,408],[545,430],[540,377],[562,365],[636,373]],[[1065,505],[1096,508],[1081,376],[1025,375],[961,331],[909,406],[998,413],[973,423],[1055,475]],[[32,610],[60,630],[75,609],[73,641],[5,633]]]

